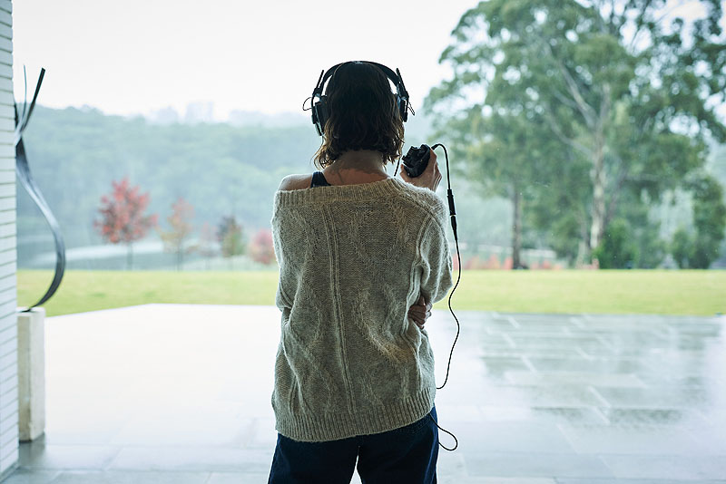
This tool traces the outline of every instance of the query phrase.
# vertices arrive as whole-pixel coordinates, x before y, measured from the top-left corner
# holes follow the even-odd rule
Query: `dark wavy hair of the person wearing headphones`
[[[314,160],[321,169],[350,150],[376,150],[384,165],[396,162],[404,142],[403,120],[388,77],[370,63],[344,63],[325,89],[329,118]]]

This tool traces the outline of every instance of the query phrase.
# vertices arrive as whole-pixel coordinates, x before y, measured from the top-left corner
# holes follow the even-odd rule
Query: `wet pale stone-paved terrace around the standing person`
[[[437,411],[459,449],[439,482],[726,483],[726,318],[457,315]],[[231,305],[48,318],[45,435],[5,483],[267,482],[279,320]],[[440,382],[456,324],[435,312],[427,331]]]

